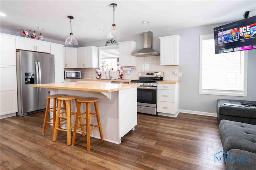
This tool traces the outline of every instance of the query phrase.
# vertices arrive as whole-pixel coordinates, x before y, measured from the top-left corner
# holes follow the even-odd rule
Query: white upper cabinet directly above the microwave
[[[64,47],[64,68],[77,68],[77,48]]]

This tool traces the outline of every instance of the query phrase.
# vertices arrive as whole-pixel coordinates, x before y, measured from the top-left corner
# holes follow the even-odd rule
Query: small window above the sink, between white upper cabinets
[[[119,66],[119,45],[112,45],[109,47],[99,47],[99,57],[100,57],[100,69],[105,71],[118,70]]]

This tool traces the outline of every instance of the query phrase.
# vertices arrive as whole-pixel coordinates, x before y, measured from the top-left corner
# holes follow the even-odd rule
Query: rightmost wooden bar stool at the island
[[[97,98],[79,98],[78,100],[76,100],[77,112],[76,112],[76,121],[75,121],[73,137],[72,137],[72,145],[74,145],[75,141],[76,141],[76,132],[81,132],[82,134],[85,133],[86,138],[87,138],[87,150],[90,150],[91,149],[90,133],[92,131],[94,131],[95,129],[99,129],[100,139],[103,141],[103,134],[102,134],[102,128],[101,128],[101,124],[100,124],[100,116],[99,116],[97,101],[98,101]],[[95,113],[90,113],[90,103],[92,103],[92,102],[94,102]],[[82,103],[86,104],[86,112],[84,112],[84,113],[80,113],[80,107],[81,107]],[[82,116],[84,114],[86,115],[85,117]],[[97,117],[98,125],[90,124],[90,118],[93,116]],[[78,119],[86,119],[86,123],[85,124],[80,123],[80,125],[78,126]],[[82,122],[82,121],[80,121],[80,122]],[[82,130],[82,127],[84,127],[84,126],[86,126],[86,131]],[[90,126],[93,126],[94,128],[92,130],[90,130]],[[81,128],[81,131],[78,130],[79,128]]]

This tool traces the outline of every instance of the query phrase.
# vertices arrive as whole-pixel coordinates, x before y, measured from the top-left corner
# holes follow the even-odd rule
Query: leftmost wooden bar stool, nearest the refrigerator
[[[52,124],[52,135],[54,131],[54,125],[55,125],[55,118],[56,118],[56,110],[57,110],[57,105],[58,105],[58,100],[57,98],[60,96],[66,96],[66,94],[52,94],[52,95],[47,95],[45,98],[47,99],[46,102],[46,109],[45,109],[45,114],[44,114],[44,125],[42,129],[42,135],[45,133],[46,129],[46,123]],[[50,107],[50,100],[53,99],[53,107]],[[64,108],[62,108],[64,109]],[[53,112],[52,118],[48,118],[48,114]],[[52,122],[51,122],[52,120]]]

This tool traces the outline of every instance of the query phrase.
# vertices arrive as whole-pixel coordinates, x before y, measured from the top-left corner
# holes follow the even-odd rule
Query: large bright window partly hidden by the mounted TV
[[[214,35],[200,36],[200,94],[246,96],[247,52],[215,54]]]

